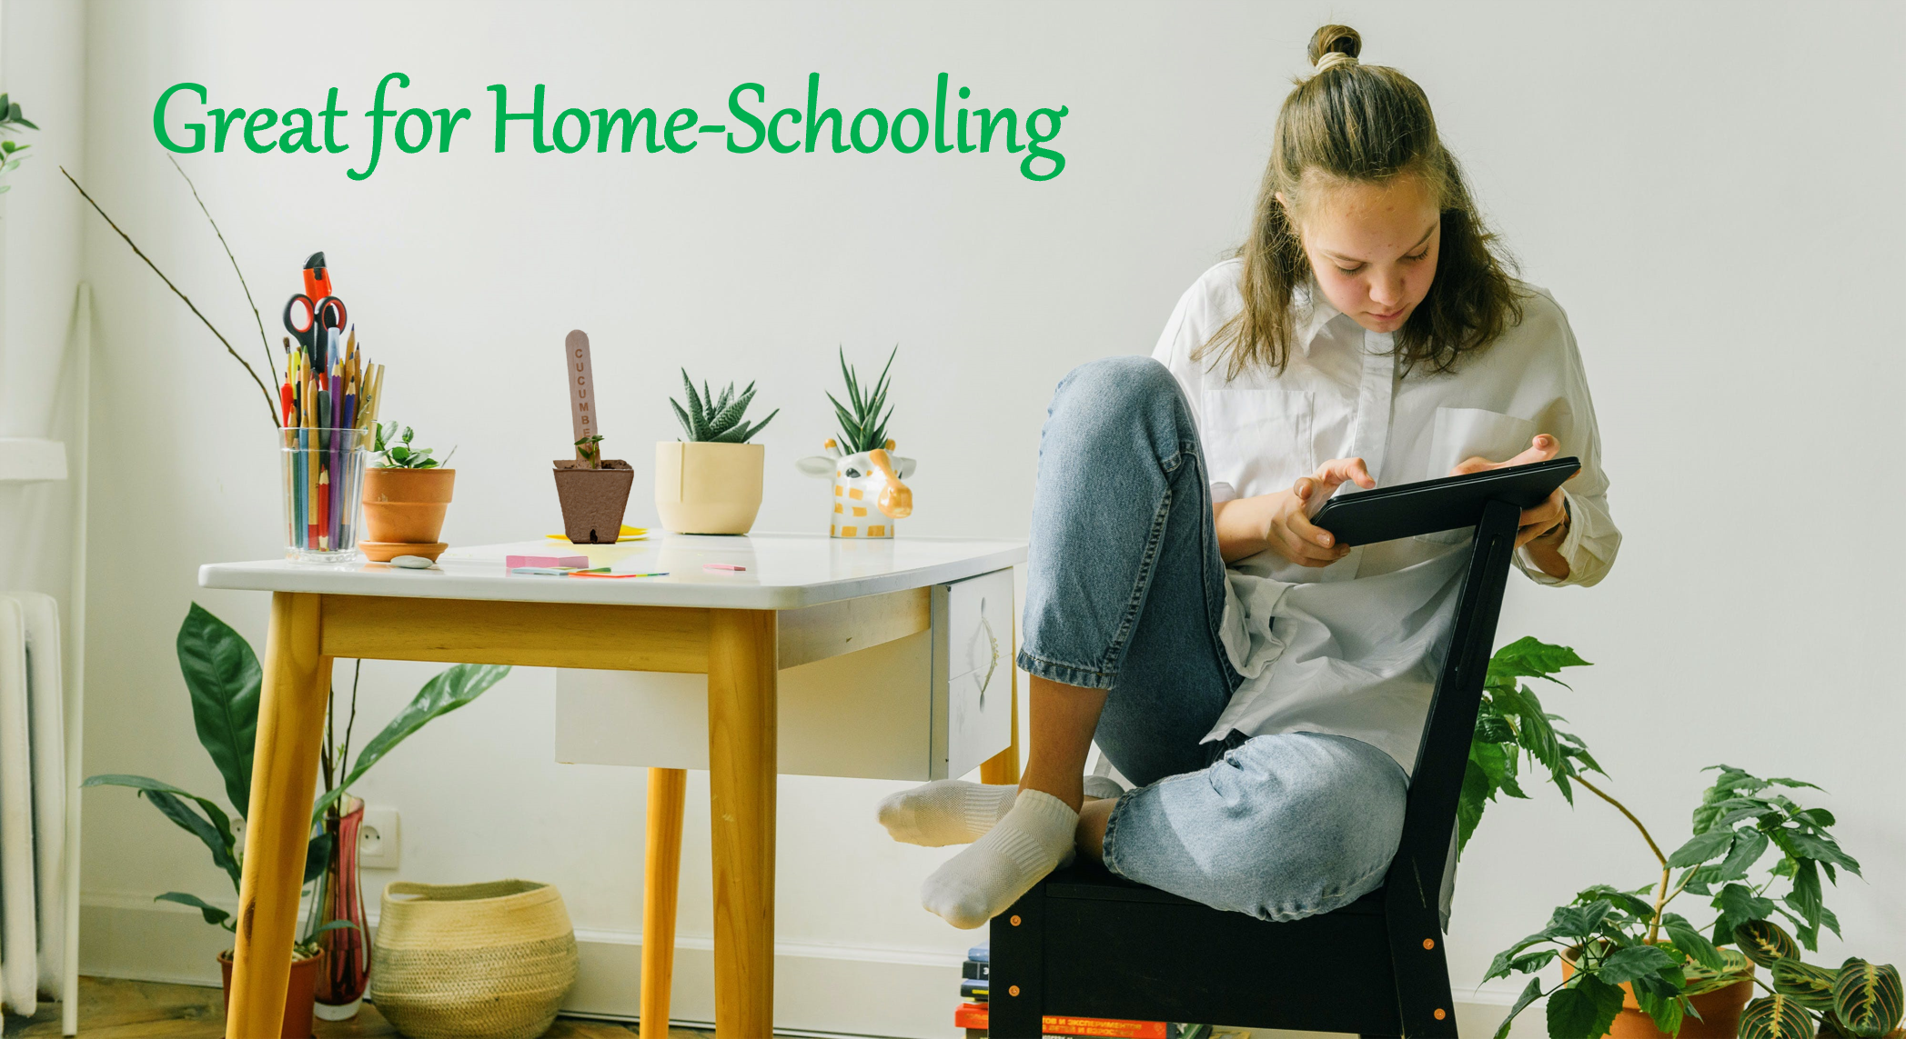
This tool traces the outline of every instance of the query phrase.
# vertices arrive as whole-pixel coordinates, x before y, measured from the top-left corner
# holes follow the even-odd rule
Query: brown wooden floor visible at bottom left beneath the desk
[[[6,1018],[6,1039],[59,1037],[59,1005],[42,1003],[30,1018]],[[370,1003],[356,1020],[318,1022],[318,1039],[383,1039],[398,1031]],[[223,1039],[223,993],[215,988],[80,978],[84,1039]],[[633,1039],[633,1024],[557,1018],[547,1039]],[[669,1039],[713,1039],[713,1031],[669,1029]]]

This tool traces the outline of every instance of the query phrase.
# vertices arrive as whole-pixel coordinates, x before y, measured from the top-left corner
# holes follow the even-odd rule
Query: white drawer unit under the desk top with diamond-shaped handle
[[[1004,750],[1012,594],[1010,569],[934,586],[928,630],[783,668],[780,771],[928,780],[966,774]],[[557,672],[557,761],[707,769],[707,677]]]

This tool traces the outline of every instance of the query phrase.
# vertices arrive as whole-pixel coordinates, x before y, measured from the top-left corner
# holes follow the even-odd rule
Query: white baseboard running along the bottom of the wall
[[[581,970],[564,1010],[633,1020],[640,1010],[640,934],[578,929],[576,944]],[[151,902],[141,894],[88,894],[80,904],[82,974],[217,986],[215,957],[227,948],[231,936],[208,927],[196,910],[185,906]],[[940,951],[776,944],[774,1029],[781,1033],[957,1039],[957,993],[959,957]],[[1464,1035],[1494,1033],[1513,1001],[1515,988],[1502,984],[1458,990],[1458,1029]],[[669,1016],[677,1024],[703,1028],[715,1020],[713,942],[705,936],[682,936],[675,944]],[[1250,1031],[1262,1039],[1306,1035]],[[1542,1010],[1534,1007],[1517,1018],[1510,1039],[1540,1039],[1542,1031]]]

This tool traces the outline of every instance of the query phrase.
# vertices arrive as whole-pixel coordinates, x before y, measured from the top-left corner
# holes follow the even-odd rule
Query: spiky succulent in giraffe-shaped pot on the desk
[[[827,438],[825,455],[810,455],[795,462],[808,476],[833,481],[827,533],[841,539],[892,539],[894,525],[913,514],[913,491],[902,480],[913,476],[917,462],[892,455],[886,421],[894,409],[886,403],[888,371],[900,346],[886,354],[886,367],[873,386],[862,392],[860,373],[841,352],[841,379],[846,382],[846,403],[827,394],[841,421],[841,436]],[[882,413],[884,407],[884,413]]]

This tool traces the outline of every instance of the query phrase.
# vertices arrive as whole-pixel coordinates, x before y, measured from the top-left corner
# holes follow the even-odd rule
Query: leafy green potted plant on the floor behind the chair
[[[1815,1010],[1822,1009],[1818,984],[1824,969],[1774,969],[1776,957],[1765,950],[1797,955],[1797,946],[1792,940],[1782,944],[1786,932],[1767,917],[1778,913],[1792,921],[1809,950],[1816,948],[1820,927],[1839,932],[1839,921],[1822,904],[1820,879],[1837,881],[1837,870],[1858,875],[1860,866],[1834,839],[1834,814],[1794,799],[1801,790],[1816,790],[1813,784],[1763,780],[1715,765],[1712,771],[1719,776],[1694,809],[1693,835],[1672,854],[1664,853],[1635,813],[1586,776],[1607,773],[1582,738],[1561,731],[1555,723],[1563,719],[1521,683],[1523,677],[1536,677],[1563,685],[1555,674],[1586,664],[1572,649],[1536,639],[1515,641],[1494,655],[1470,744],[1458,847],[1468,843],[1496,795],[1529,795],[1519,786],[1519,763],[1527,759],[1546,769],[1571,803],[1572,788],[1580,786],[1622,813],[1647,843],[1660,875],[1637,889],[1584,889],[1559,906],[1542,931],[1496,955],[1487,978],[1536,974],[1557,961],[1563,974],[1561,984],[1548,990],[1542,978],[1531,978],[1504,1018],[1498,1039],[1508,1035],[1510,1022],[1523,1009],[1542,997],[1550,999],[1551,1039],[1734,1039],[1736,1026],[1744,1039],[1813,1039],[1811,1028],[1805,1035],[1786,1031],[1797,1022],[1788,1001],[1809,997]],[[1763,868],[1771,851],[1776,856]],[[1786,885],[1778,902],[1773,898],[1776,885]],[[1670,904],[1683,894],[1706,896],[1713,919],[1694,925],[1670,912]],[[1727,948],[1731,944],[1740,948]],[[1774,974],[1763,980],[1755,976],[1755,965]],[[1853,965],[1849,961],[1847,967]],[[1876,970],[1883,974],[1889,969]],[[1754,986],[1765,988],[1769,997],[1750,1005]],[[1774,1031],[1755,1031],[1767,1026]],[[1820,1035],[1879,1039],[1887,1029]]]

